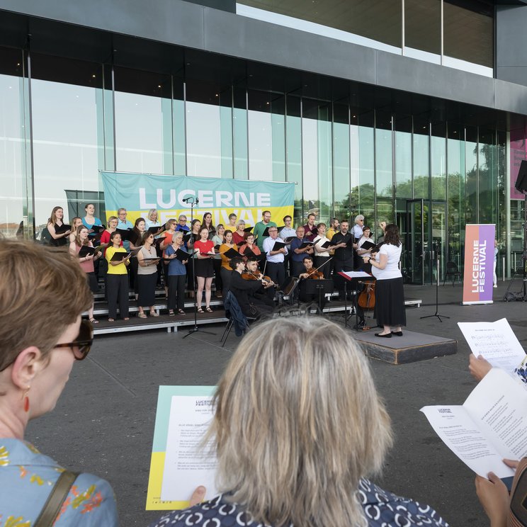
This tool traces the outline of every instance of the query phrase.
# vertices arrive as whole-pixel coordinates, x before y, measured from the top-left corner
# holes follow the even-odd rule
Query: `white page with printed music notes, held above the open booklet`
[[[458,322],[459,329],[475,356],[481,355],[492,366],[510,375],[525,358],[525,351],[507,319],[496,322]]]

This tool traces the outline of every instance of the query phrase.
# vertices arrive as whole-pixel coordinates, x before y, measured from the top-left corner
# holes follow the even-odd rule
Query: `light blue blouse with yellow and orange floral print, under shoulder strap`
[[[64,468],[33,445],[0,438],[0,526],[31,527]],[[108,482],[79,474],[54,527],[118,526],[115,497]]]

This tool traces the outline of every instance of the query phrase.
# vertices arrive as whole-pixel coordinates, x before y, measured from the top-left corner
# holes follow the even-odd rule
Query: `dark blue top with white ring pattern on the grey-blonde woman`
[[[358,500],[363,507],[368,527],[448,527],[448,523],[431,506],[386,492],[368,480],[361,480],[358,488]],[[222,494],[210,502],[203,502],[184,511],[173,511],[165,514],[151,523],[149,527],[168,526],[272,527],[263,523],[255,523],[248,512],[237,504],[225,501]]]

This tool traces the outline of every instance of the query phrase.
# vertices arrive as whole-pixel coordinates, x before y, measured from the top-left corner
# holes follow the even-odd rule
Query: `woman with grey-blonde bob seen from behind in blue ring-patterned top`
[[[223,494],[151,527],[447,525],[365,479],[392,444],[390,419],[351,334],[313,322],[271,319],[244,337],[203,442],[215,444]]]

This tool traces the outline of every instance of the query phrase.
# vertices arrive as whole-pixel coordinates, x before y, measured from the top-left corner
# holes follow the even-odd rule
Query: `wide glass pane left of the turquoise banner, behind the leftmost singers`
[[[84,216],[86,202],[94,202],[105,222],[98,176],[101,65],[32,54],[31,77],[37,229],[45,227],[56,205],[70,220]]]

